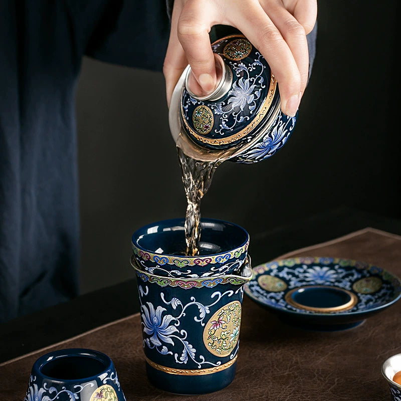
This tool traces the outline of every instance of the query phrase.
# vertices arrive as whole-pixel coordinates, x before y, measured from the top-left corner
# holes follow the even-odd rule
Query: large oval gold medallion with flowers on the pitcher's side
[[[241,303],[223,306],[209,320],[204,330],[204,344],[216,356],[228,356],[238,342],[241,325]]]

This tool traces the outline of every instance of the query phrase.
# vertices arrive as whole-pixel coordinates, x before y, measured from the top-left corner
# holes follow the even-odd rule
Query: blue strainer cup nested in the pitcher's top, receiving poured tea
[[[156,276],[205,278],[238,273],[248,254],[249,234],[222,220],[201,219],[198,256],[185,256],[184,219],[149,224],[132,235],[140,270]]]

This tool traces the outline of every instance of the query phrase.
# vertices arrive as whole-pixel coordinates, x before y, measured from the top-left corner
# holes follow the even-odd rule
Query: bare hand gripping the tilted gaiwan
[[[283,113],[295,116],[308,80],[306,35],[316,16],[316,0],[174,0],[163,66],[167,104],[188,64],[191,91],[204,96],[214,90],[217,72],[209,32],[214,25],[229,25],[262,53],[279,84]]]

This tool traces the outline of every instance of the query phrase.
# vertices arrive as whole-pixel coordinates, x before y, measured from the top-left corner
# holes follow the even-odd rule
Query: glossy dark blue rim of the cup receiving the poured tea
[[[194,260],[194,259],[199,259],[199,258],[202,259],[202,258],[209,258],[209,257],[216,257],[216,256],[219,256],[219,255],[224,255],[226,253],[236,251],[237,249],[240,249],[240,248],[246,246],[249,243],[249,233],[242,226],[239,226],[238,224],[233,223],[233,222],[229,222],[227,220],[220,220],[220,219],[213,219],[213,218],[201,218],[200,219],[200,224],[202,224],[204,222],[213,222],[213,223],[229,224],[231,226],[235,226],[236,228],[240,229],[241,231],[243,231],[245,233],[246,239],[241,245],[237,245],[234,248],[231,248],[231,249],[229,249],[229,250],[227,250],[225,252],[218,252],[218,253],[208,254],[208,255],[196,255],[196,256],[172,255],[172,254],[164,253],[164,252],[160,253],[160,254],[158,254],[158,253],[156,254],[155,252],[153,252],[153,251],[151,251],[149,249],[146,249],[146,248],[144,248],[144,247],[142,247],[142,246],[140,246],[138,244],[137,238],[138,238],[138,234],[139,234],[140,231],[146,230],[146,229],[148,229],[150,227],[153,227],[155,225],[159,225],[159,224],[162,224],[162,223],[165,224],[167,222],[177,222],[177,223],[178,222],[180,222],[180,223],[182,222],[182,223],[184,223],[185,219],[184,218],[175,218],[175,219],[159,220],[157,222],[150,223],[150,224],[147,224],[145,226],[140,227],[139,229],[135,230],[134,233],[131,236],[132,246],[134,248],[136,248],[137,250],[140,250],[140,251],[143,251],[143,252],[147,252],[147,253],[152,254],[152,255],[155,254],[157,256],[167,256],[167,257],[170,257],[170,258]]]

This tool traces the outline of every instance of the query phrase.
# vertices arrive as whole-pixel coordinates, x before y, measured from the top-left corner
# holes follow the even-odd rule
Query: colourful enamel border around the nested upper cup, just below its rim
[[[211,255],[211,256],[197,256],[197,257],[178,257],[163,254],[154,254],[151,252],[142,251],[132,244],[132,249],[135,255],[144,261],[155,262],[160,266],[169,264],[176,267],[187,267],[187,266],[206,266],[209,264],[225,263],[232,258],[239,258],[243,253],[248,251],[249,240],[240,248],[236,248],[233,251],[225,254]]]

